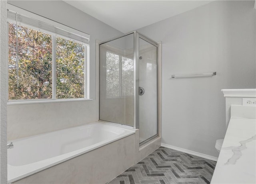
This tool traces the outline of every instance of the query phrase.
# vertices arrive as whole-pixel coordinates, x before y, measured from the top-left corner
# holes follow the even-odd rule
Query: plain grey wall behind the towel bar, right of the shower
[[[214,1],[143,27],[162,41],[162,143],[217,157],[225,135],[221,89],[255,88],[254,1]],[[171,74],[216,71],[206,78]]]

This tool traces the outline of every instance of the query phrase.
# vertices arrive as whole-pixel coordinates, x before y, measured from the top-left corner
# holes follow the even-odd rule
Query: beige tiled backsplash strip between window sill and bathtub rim
[[[95,100],[8,105],[7,140],[95,122],[95,109]]]

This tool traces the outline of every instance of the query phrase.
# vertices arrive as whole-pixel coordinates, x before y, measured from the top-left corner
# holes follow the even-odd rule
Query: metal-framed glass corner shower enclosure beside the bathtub
[[[99,120],[139,129],[140,144],[158,137],[158,46],[134,31],[99,47]]]

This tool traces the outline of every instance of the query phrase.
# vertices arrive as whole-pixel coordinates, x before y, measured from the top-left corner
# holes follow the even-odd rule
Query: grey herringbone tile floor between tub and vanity
[[[158,148],[108,184],[210,184],[216,162]]]

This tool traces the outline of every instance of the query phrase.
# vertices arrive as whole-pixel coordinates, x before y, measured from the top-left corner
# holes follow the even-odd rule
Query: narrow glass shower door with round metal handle
[[[154,137],[157,129],[157,47],[139,37],[140,143]]]

